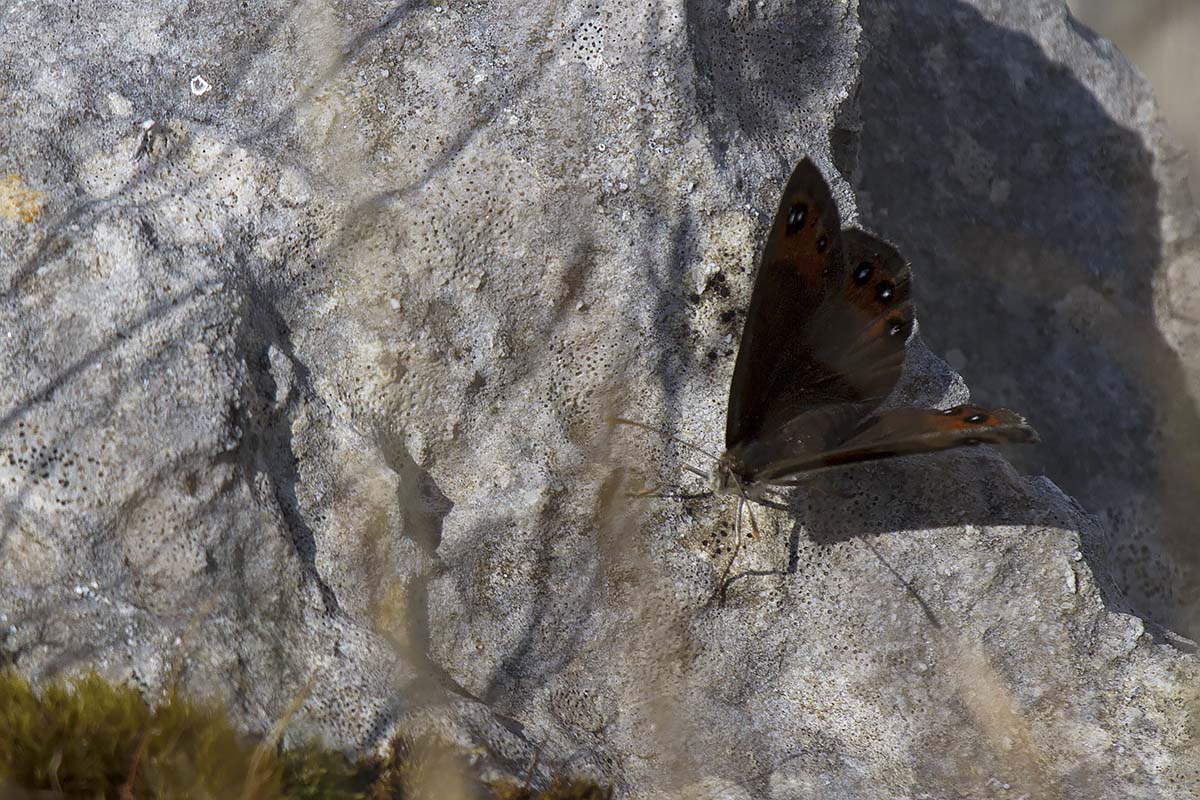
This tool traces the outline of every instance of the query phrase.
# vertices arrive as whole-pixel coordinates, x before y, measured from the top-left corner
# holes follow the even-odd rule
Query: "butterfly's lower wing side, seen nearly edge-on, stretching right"
[[[988,410],[978,405],[956,405],[944,411],[898,408],[868,417],[859,423],[854,434],[839,446],[763,465],[757,470],[755,480],[775,485],[796,483],[797,475],[863,461],[911,456],[983,443],[1037,441],[1037,431],[1022,416],[1008,409]]]

